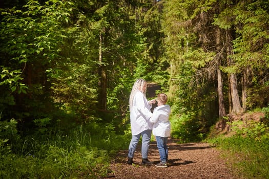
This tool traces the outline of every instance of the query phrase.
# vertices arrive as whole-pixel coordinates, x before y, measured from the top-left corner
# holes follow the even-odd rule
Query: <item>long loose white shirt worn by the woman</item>
[[[133,99],[133,107],[130,109],[132,135],[138,135],[144,130],[152,129],[150,118],[152,113],[147,98],[141,91],[137,91]]]

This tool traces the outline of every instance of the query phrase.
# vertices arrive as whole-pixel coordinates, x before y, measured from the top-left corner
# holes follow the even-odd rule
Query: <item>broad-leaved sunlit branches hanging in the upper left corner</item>
[[[25,68],[27,62],[29,65],[46,64],[58,56],[59,45],[63,38],[67,37],[61,26],[68,23],[72,3],[48,1],[43,6],[38,1],[29,1],[23,8],[1,10],[3,18],[0,32],[3,48],[0,52],[5,54],[2,62],[12,63],[14,69],[19,69],[10,69],[9,78],[5,78],[1,84],[9,84],[11,91],[18,89],[18,93],[26,93],[26,86],[19,82],[23,80],[20,68]],[[22,66],[21,63],[25,65]],[[7,74],[3,73],[2,78],[7,77]]]

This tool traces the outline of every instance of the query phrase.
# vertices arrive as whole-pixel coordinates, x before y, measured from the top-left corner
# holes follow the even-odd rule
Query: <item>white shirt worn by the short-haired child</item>
[[[169,115],[171,114],[171,107],[167,104],[154,108],[153,116],[150,122],[153,124],[152,133],[154,136],[169,137],[171,133],[171,125]]]

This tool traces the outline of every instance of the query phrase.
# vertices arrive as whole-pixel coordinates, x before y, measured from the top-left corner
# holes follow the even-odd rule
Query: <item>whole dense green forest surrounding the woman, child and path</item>
[[[181,142],[269,139],[268,1],[13,0],[0,19],[0,176],[106,175],[137,78],[168,94]]]

